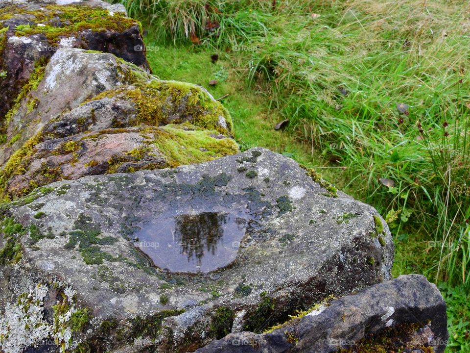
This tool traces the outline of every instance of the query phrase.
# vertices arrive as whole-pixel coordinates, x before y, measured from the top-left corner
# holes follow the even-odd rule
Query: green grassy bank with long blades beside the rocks
[[[264,146],[314,166],[386,217],[394,275],[438,283],[449,351],[470,352],[468,2],[171,0],[128,8],[147,23],[156,75],[229,95],[222,101],[242,149]],[[286,130],[274,130],[283,119]]]

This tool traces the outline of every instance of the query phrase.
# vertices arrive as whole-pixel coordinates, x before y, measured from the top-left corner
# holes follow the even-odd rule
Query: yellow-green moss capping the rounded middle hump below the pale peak
[[[138,82],[132,86],[105,91],[91,100],[112,97],[122,97],[134,102],[138,116],[133,125],[164,125],[168,123],[170,107],[176,108],[183,103],[185,110],[181,114],[182,119],[173,120],[171,123],[183,123],[185,118],[191,117],[193,125],[233,135],[229,112],[220,102],[212,100],[201,87],[191,83],[160,80]],[[225,118],[227,128],[219,125],[220,116]]]

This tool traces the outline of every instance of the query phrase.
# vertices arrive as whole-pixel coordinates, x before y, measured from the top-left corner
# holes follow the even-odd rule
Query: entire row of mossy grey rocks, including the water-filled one
[[[0,352],[442,352],[445,303],[390,280],[376,210],[238,153],[204,88],[151,75],[122,5],[0,8]]]

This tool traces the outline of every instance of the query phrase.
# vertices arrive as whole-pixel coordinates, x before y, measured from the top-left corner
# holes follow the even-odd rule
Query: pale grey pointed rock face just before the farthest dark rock
[[[42,70],[34,89],[9,112],[0,165],[47,123],[60,121],[62,112],[103,91],[133,83],[136,75],[153,78],[115,55],[72,48],[57,50]]]

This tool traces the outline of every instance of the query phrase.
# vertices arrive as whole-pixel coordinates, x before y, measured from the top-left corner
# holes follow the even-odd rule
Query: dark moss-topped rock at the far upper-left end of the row
[[[126,16],[122,5],[98,0],[67,6],[54,1],[2,0],[0,6],[0,133],[15,97],[60,48],[109,52],[149,69],[140,24]]]

